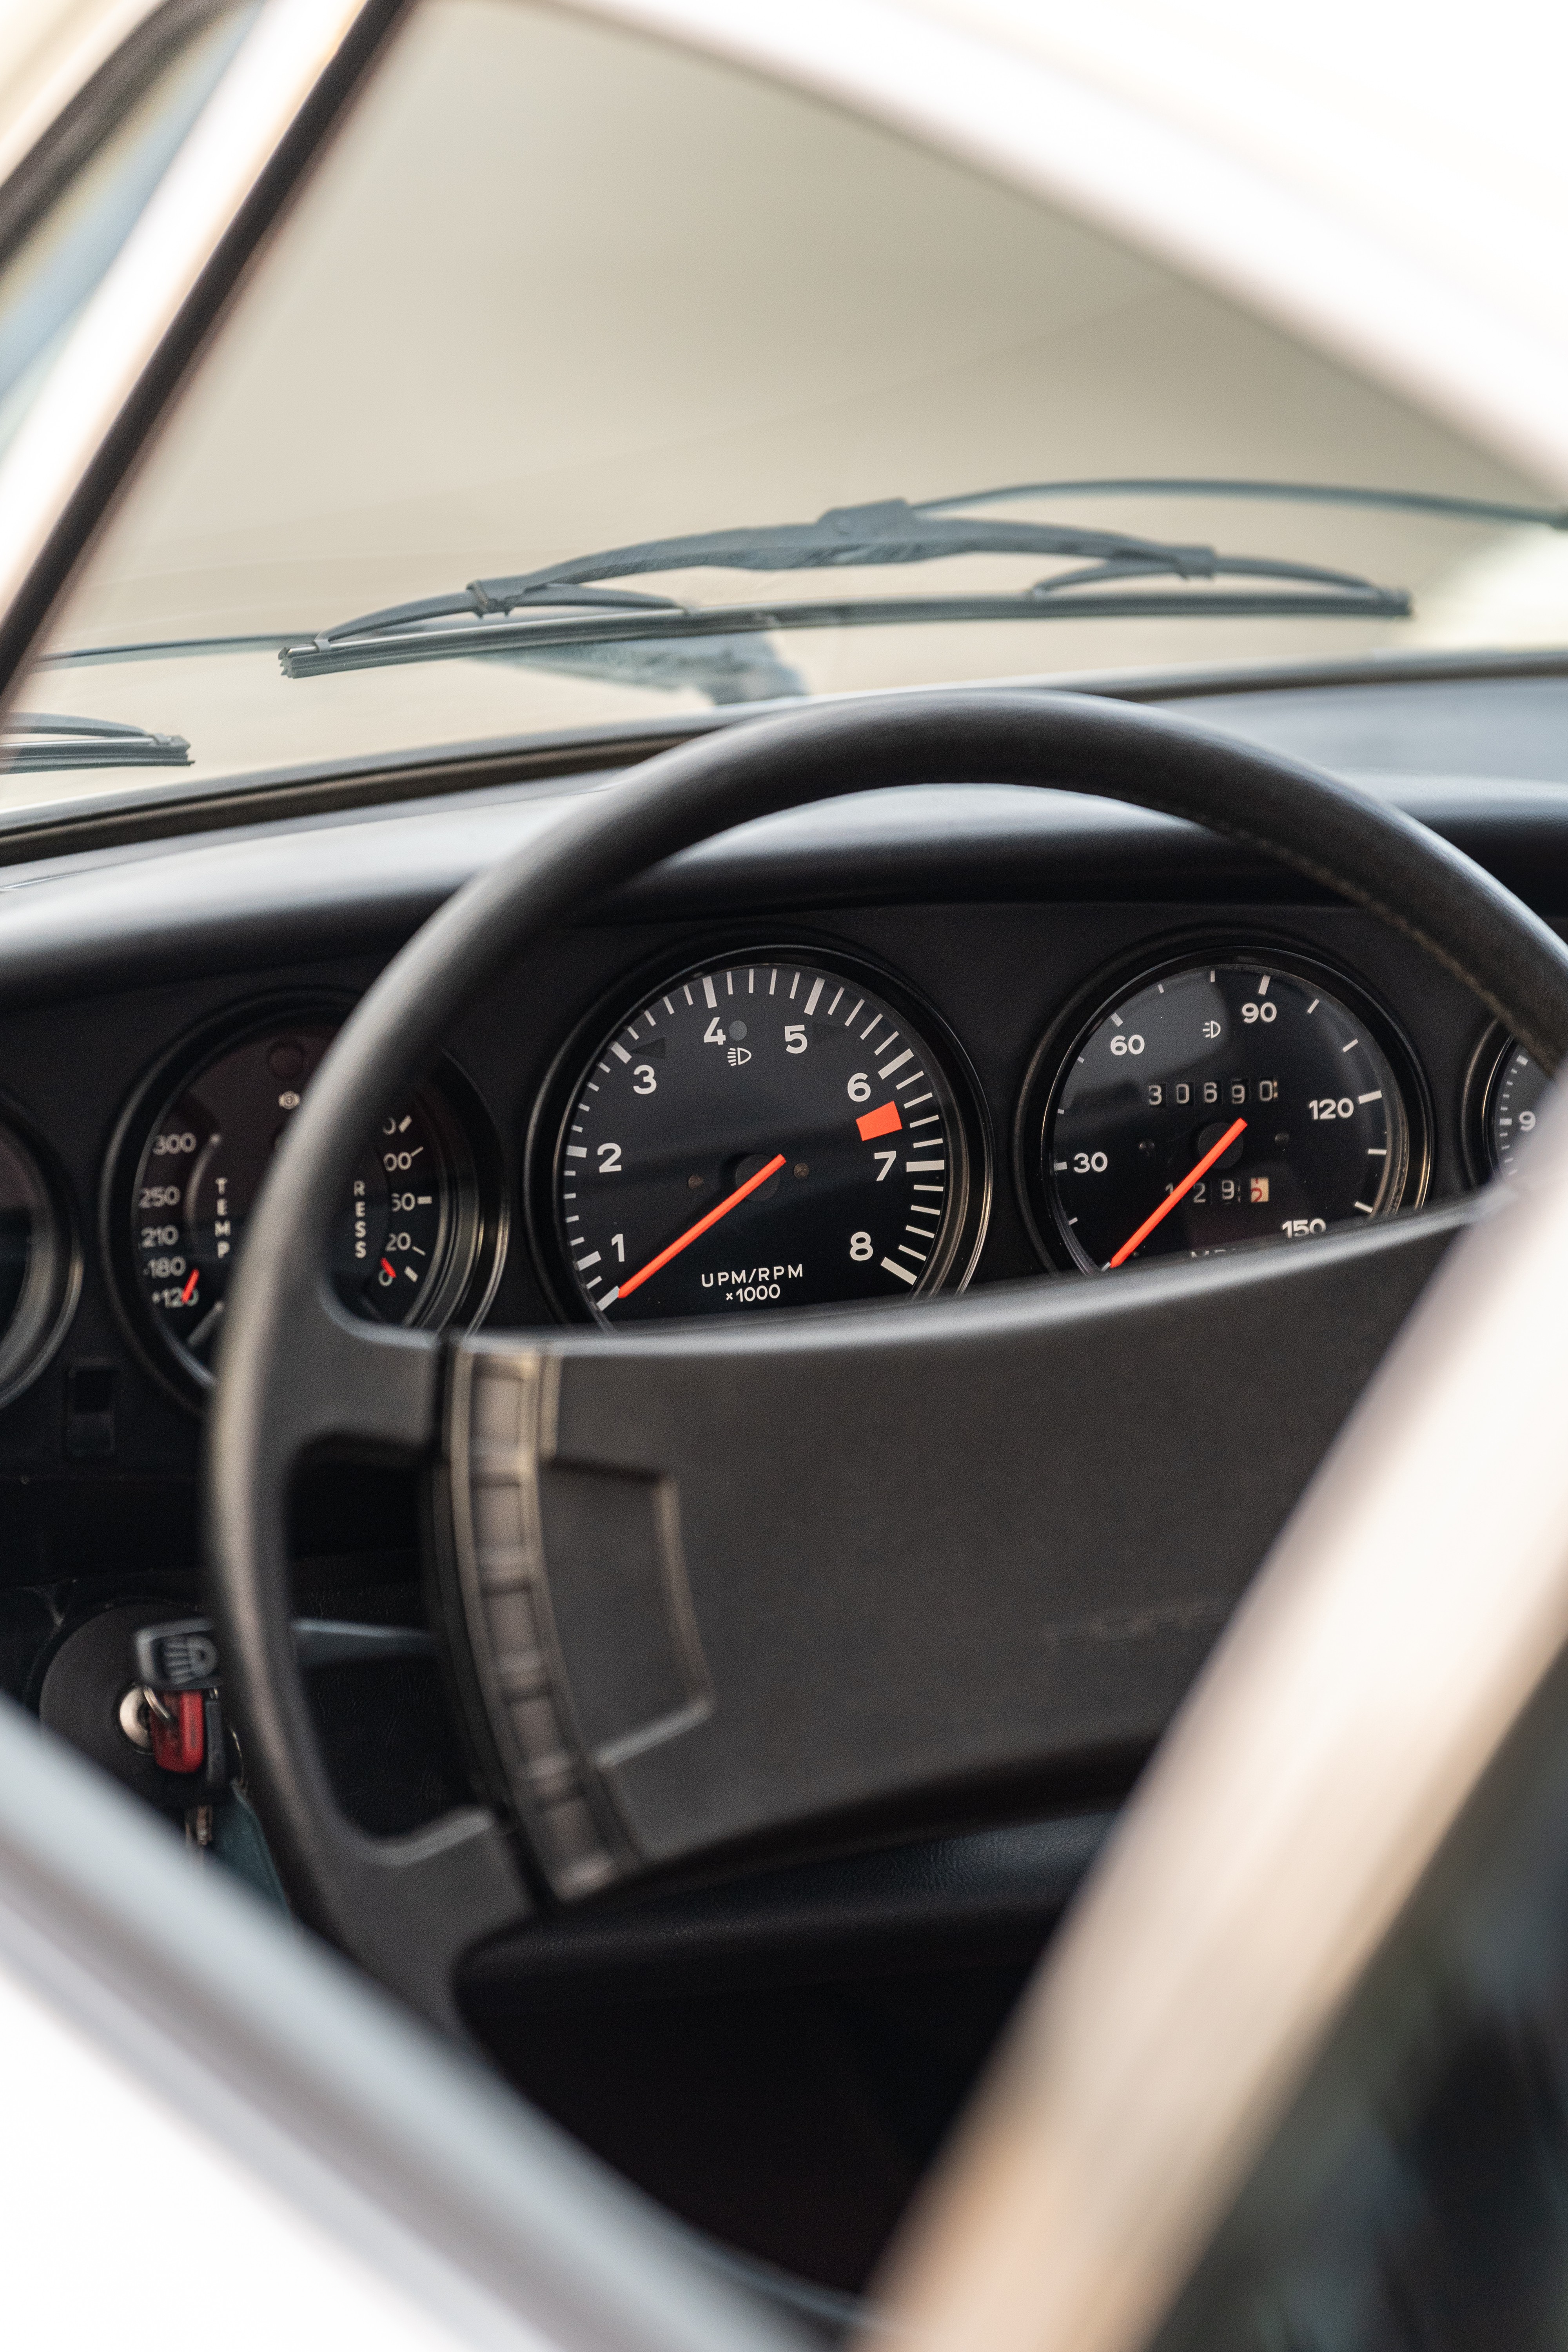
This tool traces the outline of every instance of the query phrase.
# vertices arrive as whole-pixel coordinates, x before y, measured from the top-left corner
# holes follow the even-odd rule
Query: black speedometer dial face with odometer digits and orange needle
[[[1034,1150],[1072,1258],[1114,1268],[1387,1216],[1410,1117],[1363,1007],[1272,960],[1204,962],[1091,1021]]]

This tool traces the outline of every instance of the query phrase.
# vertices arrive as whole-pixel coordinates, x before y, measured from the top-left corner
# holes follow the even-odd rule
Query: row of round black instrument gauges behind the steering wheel
[[[252,1202],[346,1009],[249,1004],[165,1054],[120,1117],[99,1244],[146,1362],[190,1402]],[[1512,1037],[1481,1037],[1472,1183],[1514,1169],[1544,1087]],[[1432,1167],[1401,1023],[1291,943],[1187,934],[1103,971],[1044,1028],[1016,1098],[987,1101],[898,971],[780,938],[628,983],[559,1044],[527,1134],[503,1136],[442,1061],[364,1138],[329,1272],[367,1319],[470,1327],[517,1195],[550,1308],[623,1329],[959,1291],[999,1185],[1039,1268],[1114,1275],[1356,1230],[1420,1207]],[[0,1404],[54,1352],[82,1249],[49,1145],[0,1108]]]

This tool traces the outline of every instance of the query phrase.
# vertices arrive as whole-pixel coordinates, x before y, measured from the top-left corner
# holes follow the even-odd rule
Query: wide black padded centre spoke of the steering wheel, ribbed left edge
[[[1147,1750],[1465,1221],[465,1341],[456,1585],[557,1896]]]

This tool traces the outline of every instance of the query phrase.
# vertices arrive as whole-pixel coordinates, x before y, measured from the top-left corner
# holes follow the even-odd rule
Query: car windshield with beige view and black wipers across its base
[[[423,0],[26,680],[52,755],[16,739],[0,811],[860,689],[1559,644],[1556,520],[957,162],[614,26]]]

